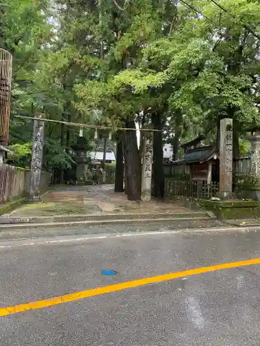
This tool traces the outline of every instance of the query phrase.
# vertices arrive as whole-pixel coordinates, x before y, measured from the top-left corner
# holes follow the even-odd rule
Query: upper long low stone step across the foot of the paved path
[[[216,219],[213,213],[209,212],[178,212],[178,213],[120,213],[120,214],[90,214],[90,215],[55,215],[46,217],[0,217],[1,225],[13,225],[17,224],[53,224],[53,223],[67,223],[67,222],[77,222],[77,221],[96,221],[100,224],[102,221],[113,221],[116,220],[156,220],[156,219],[191,219],[191,218],[201,218],[201,219]]]

